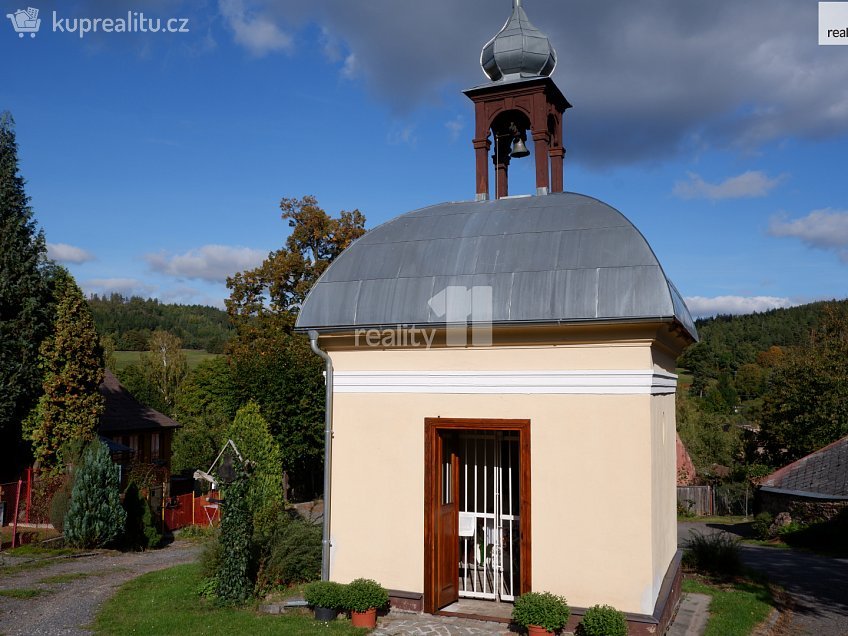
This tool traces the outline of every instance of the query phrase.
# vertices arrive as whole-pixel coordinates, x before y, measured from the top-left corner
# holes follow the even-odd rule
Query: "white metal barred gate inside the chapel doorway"
[[[521,590],[519,435],[474,431],[459,457],[459,595],[515,600]]]

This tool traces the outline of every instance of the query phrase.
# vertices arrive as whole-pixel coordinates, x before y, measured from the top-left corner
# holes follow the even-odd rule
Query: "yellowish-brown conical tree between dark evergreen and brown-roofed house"
[[[59,469],[59,451],[72,440],[92,440],[103,413],[103,349],[94,319],[73,277],[59,268],[53,334],[41,347],[43,394],[28,421],[42,468]]]

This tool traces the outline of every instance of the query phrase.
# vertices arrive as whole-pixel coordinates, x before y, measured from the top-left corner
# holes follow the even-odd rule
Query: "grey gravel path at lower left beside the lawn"
[[[0,553],[0,590],[40,590],[33,598],[0,595],[0,634],[80,636],[104,601],[118,587],[135,577],[172,565],[190,563],[200,546],[176,541],[161,550],[147,552],[95,552],[73,558],[52,559],[49,565],[10,573],[3,566],[26,558]],[[61,577],[53,578],[52,577]]]

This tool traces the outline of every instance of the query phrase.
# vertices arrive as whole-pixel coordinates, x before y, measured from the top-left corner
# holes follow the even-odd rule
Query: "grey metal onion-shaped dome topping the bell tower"
[[[480,66],[496,82],[518,77],[548,77],[556,67],[556,51],[514,0],[512,15],[480,53]]]

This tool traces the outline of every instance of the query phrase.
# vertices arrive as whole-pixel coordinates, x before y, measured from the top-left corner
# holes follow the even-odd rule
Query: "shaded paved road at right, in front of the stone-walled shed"
[[[727,526],[681,522],[678,544],[690,530],[703,533],[732,530]],[[787,634],[792,636],[848,635],[848,559],[833,559],[799,550],[742,545],[742,560],[783,586],[795,600]]]

